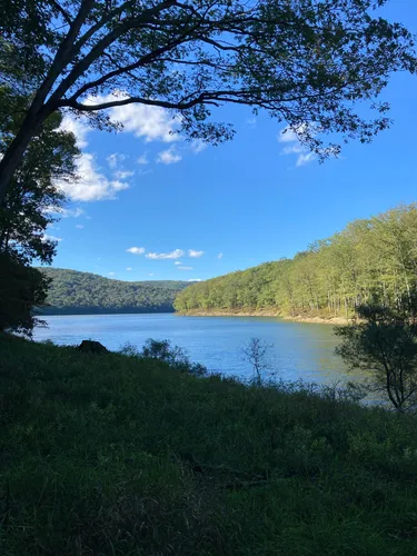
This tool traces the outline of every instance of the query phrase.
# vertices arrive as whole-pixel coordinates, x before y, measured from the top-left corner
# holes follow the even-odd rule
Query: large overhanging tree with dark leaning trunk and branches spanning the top
[[[229,139],[211,109],[265,109],[325,158],[322,133],[369,141],[393,71],[416,70],[410,33],[371,17],[385,0],[1,0],[1,85],[31,95],[0,161],[0,202],[47,118],[69,109],[109,125],[130,103],[177,115],[190,139]],[[355,105],[369,101],[366,120]]]

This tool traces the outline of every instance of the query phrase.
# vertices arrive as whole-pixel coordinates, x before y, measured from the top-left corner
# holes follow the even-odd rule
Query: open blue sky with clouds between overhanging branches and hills
[[[391,0],[385,12],[417,32],[415,0]],[[282,123],[244,107],[214,115],[237,130],[216,148],[173,140],[162,109],[115,113],[118,133],[67,119],[85,182],[66,186],[72,201],[48,230],[60,239],[53,266],[122,280],[207,279],[292,257],[353,219],[415,202],[416,91],[416,77],[394,76],[383,95],[393,127],[324,165],[280,141]]]

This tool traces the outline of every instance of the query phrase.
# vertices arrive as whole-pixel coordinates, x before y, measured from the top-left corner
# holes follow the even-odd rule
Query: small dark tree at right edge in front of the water
[[[415,305],[415,304],[414,304]],[[415,305],[415,308],[417,306]],[[368,391],[383,393],[396,410],[417,404],[417,312],[376,305],[357,309],[360,320],[336,327],[336,353],[350,369],[369,374]]]

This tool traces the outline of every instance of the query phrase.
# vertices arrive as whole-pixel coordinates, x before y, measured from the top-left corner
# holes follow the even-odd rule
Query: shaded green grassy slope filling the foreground
[[[0,554],[417,555],[407,416],[0,338]]]

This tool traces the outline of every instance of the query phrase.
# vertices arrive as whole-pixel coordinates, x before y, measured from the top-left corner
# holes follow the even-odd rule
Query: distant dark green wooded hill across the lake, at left
[[[39,268],[52,279],[41,315],[172,312],[172,302],[189,282],[121,281],[63,268]]]

